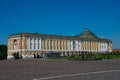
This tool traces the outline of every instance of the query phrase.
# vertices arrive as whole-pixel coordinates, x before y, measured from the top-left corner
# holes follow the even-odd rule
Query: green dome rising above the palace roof
[[[77,37],[87,38],[87,39],[95,39],[95,38],[97,38],[97,36],[88,29],[85,29],[84,31],[82,31],[79,35],[77,35]]]

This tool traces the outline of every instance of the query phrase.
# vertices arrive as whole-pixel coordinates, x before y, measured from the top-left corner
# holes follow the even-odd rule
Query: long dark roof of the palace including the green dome
[[[51,34],[41,34],[41,33],[26,33],[26,32],[22,32],[22,33],[17,33],[17,34],[11,34],[8,36],[8,38],[14,38],[14,37],[41,37],[43,39],[45,38],[49,38],[49,39],[66,39],[66,40],[85,40],[85,41],[110,41],[108,39],[104,39],[104,38],[99,38],[97,37],[93,32],[91,32],[88,29],[85,29],[83,32],[81,32],[79,35],[77,36],[65,36],[65,35],[51,35]]]

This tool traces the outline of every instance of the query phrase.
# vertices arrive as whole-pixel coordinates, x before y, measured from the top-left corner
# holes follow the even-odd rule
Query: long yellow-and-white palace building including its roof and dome
[[[44,58],[45,54],[59,56],[79,55],[84,53],[112,52],[112,41],[97,37],[93,32],[84,29],[76,36],[62,36],[39,33],[17,33],[8,36],[8,56],[13,58],[19,53],[22,58]]]

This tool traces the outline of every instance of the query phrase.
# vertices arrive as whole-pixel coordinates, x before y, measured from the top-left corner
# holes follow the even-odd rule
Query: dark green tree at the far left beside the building
[[[7,45],[0,44],[0,60],[7,59]]]

